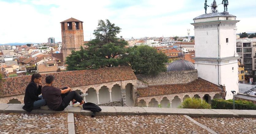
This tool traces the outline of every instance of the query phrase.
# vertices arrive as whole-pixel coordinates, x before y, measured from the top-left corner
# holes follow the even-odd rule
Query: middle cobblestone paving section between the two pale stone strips
[[[74,116],[77,134],[208,133],[182,115],[96,116],[96,118]]]

